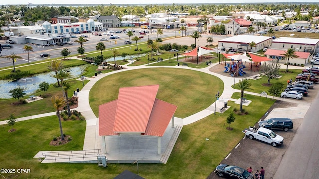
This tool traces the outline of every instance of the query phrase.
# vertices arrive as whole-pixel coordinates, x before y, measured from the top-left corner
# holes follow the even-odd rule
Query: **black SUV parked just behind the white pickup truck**
[[[264,127],[271,130],[283,130],[294,128],[293,121],[289,118],[271,118],[265,121],[258,122],[259,127]]]

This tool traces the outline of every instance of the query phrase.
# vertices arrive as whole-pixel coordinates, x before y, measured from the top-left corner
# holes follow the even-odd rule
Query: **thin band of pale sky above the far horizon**
[[[1,0],[0,5],[18,4],[138,4],[138,0]],[[141,1],[142,2],[142,1]],[[140,3],[141,3],[140,2]],[[243,0],[243,3],[263,3],[263,2],[318,2],[318,0]],[[222,3],[220,0],[144,0],[144,4],[179,4],[179,3]],[[238,0],[227,0],[226,3],[238,3]]]

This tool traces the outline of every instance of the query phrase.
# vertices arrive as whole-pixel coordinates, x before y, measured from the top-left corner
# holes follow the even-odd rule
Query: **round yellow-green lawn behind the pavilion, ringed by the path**
[[[217,91],[222,93],[224,89],[223,82],[219,78],[193,70],[175,68],[130,70],[99,80],[90,90],[90,106],[98,116],[98,106],[117,99],[120,87],[153,84],[160,84],[157,98],[177,105],[175,116],[181,118],[207,108],[215,100],[215,95],[212,94],[216,94]]]

